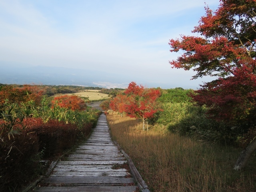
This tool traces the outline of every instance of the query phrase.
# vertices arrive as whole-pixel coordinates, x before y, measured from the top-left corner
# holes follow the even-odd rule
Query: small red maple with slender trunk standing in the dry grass
[[[124,104],[123,110],[127,116],[142,118],[143,130],[145,130],[146,118],[152,118],[160,109],[156,99],[160,97],[161,92],[158,89],[144,88],[138,86],[135,82],[131,82],[124,92],[129,98]]]

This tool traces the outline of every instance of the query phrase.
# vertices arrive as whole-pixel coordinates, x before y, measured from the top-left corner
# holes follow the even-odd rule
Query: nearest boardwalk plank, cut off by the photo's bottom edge
[[[38,192],[133,192],[136,186],[37,187]]]

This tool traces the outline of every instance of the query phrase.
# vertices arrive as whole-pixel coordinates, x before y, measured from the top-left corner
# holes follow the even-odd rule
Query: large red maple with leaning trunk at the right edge
[[[230,126],[256,125],[256,0],[221,0],[213,12],[206,7],[193,33],[170,40],[171,52],[183,51],[170,64],[174,68],[193,69],[193,78],[215,76],[194,95],[198,104],[209,107],[209,116]],[[246,126],[244,126],[246,125]],[[255,130],[256,131],[256,130]],[[256,149],[256,139],[236,162],[238,170],[246,165]]]

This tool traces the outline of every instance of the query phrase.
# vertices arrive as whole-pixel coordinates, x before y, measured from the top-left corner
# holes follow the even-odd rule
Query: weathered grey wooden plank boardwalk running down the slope
[[[100,115],[90,138],[59,161],[36,192],[134,192],[127,161],[110,138],[106,116]]]

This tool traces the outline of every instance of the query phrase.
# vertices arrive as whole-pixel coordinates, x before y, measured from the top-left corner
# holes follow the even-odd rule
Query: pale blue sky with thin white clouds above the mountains
[[[219,0],[0,0],[0,65],[112,72],[126,82],[198,88],[172,69],[168,42],[189,35]]]

